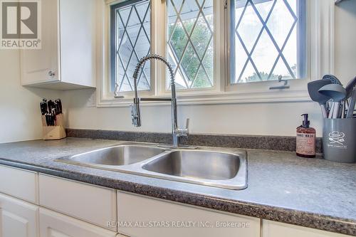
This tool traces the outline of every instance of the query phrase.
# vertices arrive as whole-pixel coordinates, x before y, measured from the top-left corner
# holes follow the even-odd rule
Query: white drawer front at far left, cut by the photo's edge
[[[36,172],[0,165],[0,192],[37,204]]]

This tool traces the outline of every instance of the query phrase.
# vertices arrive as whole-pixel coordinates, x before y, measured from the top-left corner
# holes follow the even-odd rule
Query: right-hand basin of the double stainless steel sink
[[[178,150],[164,154],[142,166],[150,172],[192,179],[233,179],[239,172],[240,159],[229,153]]]

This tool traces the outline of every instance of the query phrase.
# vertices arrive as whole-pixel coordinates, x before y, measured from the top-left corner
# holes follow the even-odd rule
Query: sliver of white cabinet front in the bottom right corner
[[[347,237],[340,233],[320,231],[286,223],[262,220],[261,237]]]

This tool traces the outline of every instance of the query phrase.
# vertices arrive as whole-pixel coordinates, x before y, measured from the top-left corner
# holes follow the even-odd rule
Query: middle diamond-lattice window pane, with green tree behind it
[[[211,88],[214,85],[213,0],[168,0],[167,12],[167,57],[174,66],[177,89]]]

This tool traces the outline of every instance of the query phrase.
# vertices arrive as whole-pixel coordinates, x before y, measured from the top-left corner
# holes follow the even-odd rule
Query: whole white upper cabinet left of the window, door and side
[[[96,0],[41,1],[42,48],[21,51],[22,85],[96,86]]]

